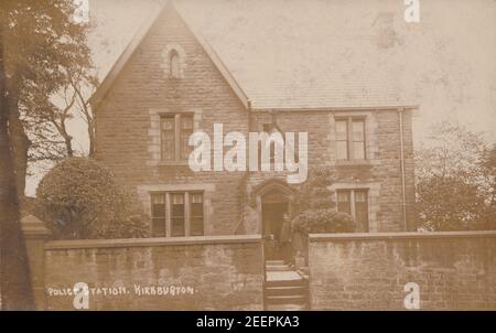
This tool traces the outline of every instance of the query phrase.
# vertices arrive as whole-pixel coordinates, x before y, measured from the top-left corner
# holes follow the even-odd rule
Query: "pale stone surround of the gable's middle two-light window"
[[[172,115],[190,114],[193,115],[193,132],[200,130],[200,123],[202,121],[202,109],[198,108],[185,108],[185,109],[169,109],[169,108],[151,108],[149,109],[150,128],[148,131],[149,142],[148,152],[150,159],[147,161],[149,166],[181,166],[188,165],[186,160],[163,160],[162,159],[162,130],[161,118]]]

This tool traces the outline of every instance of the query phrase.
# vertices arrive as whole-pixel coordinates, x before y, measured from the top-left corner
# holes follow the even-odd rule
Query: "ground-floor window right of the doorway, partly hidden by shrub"
[[[357,232],[368,233],[368,191],[337,190],[336,197],[337,211],[355,218]]]

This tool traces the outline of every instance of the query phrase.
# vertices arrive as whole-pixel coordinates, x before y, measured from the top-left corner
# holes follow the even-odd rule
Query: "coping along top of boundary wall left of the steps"
[[[148,246],[181,246],[181,245],[208,245],[208,244],[220,245],[220,244],[247,244],[247,243],[261,244],[261,235],[52,240],[45,243],[45,250],[85,249],[85,248],[129,248],[129,247],[148,247]]]

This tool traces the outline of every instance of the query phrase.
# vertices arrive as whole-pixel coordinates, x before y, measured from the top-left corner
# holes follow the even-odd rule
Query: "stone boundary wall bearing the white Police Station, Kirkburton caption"
[[[60,240],[45,244],[45,309],[261,310],[260,236]],[[80,301],[80,299],[78,299]]]

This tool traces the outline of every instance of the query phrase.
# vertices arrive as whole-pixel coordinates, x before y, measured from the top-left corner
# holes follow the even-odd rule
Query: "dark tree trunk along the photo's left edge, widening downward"
[[[6,21],[6,12],[0,11],[0,307],[2,310],[34,310],[19,216],[9,108],[11,96],[6,86],[6,26],[2,24]]]

